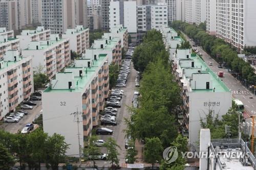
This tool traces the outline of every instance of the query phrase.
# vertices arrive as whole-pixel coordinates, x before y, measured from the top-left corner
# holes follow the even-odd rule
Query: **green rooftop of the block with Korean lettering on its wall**
[[[212,81],[212,87],[215,87],[215,92],[229,92],[230,90],[221,81],[221,79],[213,72],[198,55],[191,55],[190,59],[194,60],[194,67],[202,67],[201,73],[208,73]],[[193,92],[212,92],[212,89],[193,90]]]

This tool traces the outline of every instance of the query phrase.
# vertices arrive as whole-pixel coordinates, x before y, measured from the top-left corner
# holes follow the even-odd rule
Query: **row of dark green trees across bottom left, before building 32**
[[[69,144],[59,134],[49,136],[41,128],[30,134],[11,134],[0,130],[0,169],[9,170],[15,160],[21,169],[40,169],[41,163],[53,170],[58,169],[60,162],[65,162],[65,153]],[[5,159],[2,159],[5,158]],[[14,159],[15,158],[15,159]]]

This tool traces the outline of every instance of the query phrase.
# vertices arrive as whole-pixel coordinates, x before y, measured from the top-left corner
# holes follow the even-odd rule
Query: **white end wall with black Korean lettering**
[[[232,106],[231,99],[231,92],[189,93],[189,144],[198,145],[201,129],[200,119],[204,119],[209,110],[212,110],[215,116],[218,114],[221,118]]]

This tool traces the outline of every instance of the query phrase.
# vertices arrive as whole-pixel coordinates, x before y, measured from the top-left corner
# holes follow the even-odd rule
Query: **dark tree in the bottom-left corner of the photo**
[[[14,164],[15,161],[8,152],[8,149],[0,143],[0,169],[9,170]]]

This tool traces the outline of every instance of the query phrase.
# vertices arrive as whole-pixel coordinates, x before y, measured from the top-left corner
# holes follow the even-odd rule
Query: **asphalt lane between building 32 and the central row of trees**
[[[116,118],[117,126],[102,126],[102,127],[112,129],[114,133],[113,135],[98,135],[99,139],[106,140],[109,137],[113,137],[117,141],[117,144],[120,146],[120,149],[118,148],[118,153],[120,154],[118,156],[119,165],[121,165],[122,163],[125,163],[126,149],[124,148],[125,133],[123,132],[123,130],[126,129],[126,124],[124,123],[123,118],[130,117],[128,107],[132,106],[133,94],[136,89],[135,79],[136,79],[136,70],[133,68],[133,64],[131,64],[131,73],[127,78],[126,87],[119,88],[124,90],[124,95],[121,100],[121,108],[118,108],[118,111],[117,111],[117,118]],[[106,153],[106,149],[104,147],[101,147],[101,152]],[[110,162],[108,161],[96,160],[95,162],[97,166],[110,165]],[[87,161],[86,164],[93,166],[93,161]]]

